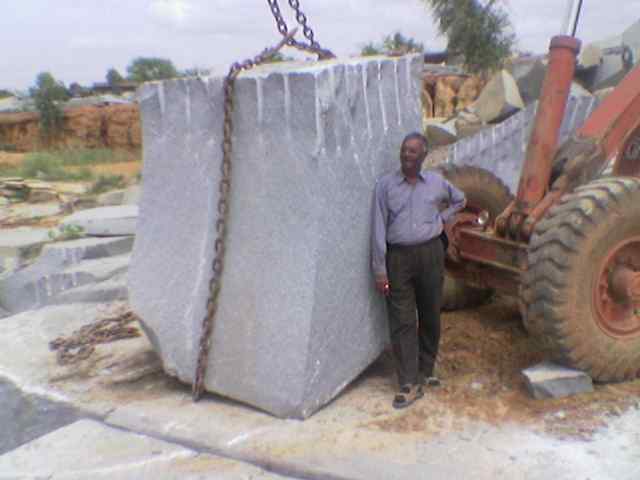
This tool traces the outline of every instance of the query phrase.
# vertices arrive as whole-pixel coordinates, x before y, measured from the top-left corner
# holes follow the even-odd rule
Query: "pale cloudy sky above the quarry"
[[[543,53],[561,33],[567,0],[498,0],[518,48]],[[290,12],[287,0],[281,10]],[[316,39],[340,56],[400,31],[442,50],[444,38],[421,0],[300,0]],[[620,34],[640,19],[640,0],[585,0],[578,37]],[[289,17],[290,28],[295,22]],[[123,75],[139,57],[170,59],[178,69],[223,73],[279,40],[265,0],[4,0],[0,15],[0,88],[26,90],[49,71],[66,85]],[[286,55],[290,51],[284,51]],[[294,54],[295,56],[295,54]]]

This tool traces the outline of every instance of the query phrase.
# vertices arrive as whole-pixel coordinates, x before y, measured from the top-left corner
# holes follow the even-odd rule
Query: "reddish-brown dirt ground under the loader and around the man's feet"
[[[607,417],[619,416],[640,402],[640,380],[595,385],[595,391],[554,400],[535,400],[527,392],[522,369],[544,360],[522,326],[517,306],[495,299],[476,309],[443,314],[437,374],[443,386],[429,389],[406,414],[373,421],[383,431],[457,430],[475,419],[499,426],[521,424],[559,438],[590,438]],[[388,352],[366,375],[393,376]],[[391,401],[389,396],[388,401]],[[426,418],[440,421],[425,422]]]

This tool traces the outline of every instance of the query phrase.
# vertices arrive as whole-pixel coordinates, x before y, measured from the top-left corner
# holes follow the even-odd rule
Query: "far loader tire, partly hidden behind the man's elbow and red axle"
[[[483,168],[441,165],[435,170],[465,193],[467,210],[486,210],[491,215],[491,221],[513,200],[513,195],[502,180]],[[474,307],[486,302],[492,295],[491,289],[475,288],[445,274],[442,309],[451,311]]]

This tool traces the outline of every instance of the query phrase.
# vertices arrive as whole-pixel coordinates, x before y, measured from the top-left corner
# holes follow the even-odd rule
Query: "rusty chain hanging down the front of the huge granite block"
[[[309,44],[298,42],[294,39],[297,28],[289,31],[286,22],[282,18],[278,0],[267,0],[271,12],[276,19],[278,31],[282,35],[282,40],[275,46],[265,49],[253,59],[245,60],[242,63],[231,65],[227,76],[224,79],[224,126],[222,140],[222,166],[218,193],[218,220],[216,221],[216,240],[214,258],[212,262],[212,275],[209,281],[209,297],[207,298],[206,313],[202,320],[200,341],[198,345],[198,358],[196,360],[196,370],[192,385],[193,400],[198,401],[204,391],[204,379],[207,373],[207,363],[209,361],[209,350],[211,349],[211,332],[216,311],[218,309],[218,296],[221,288],[221,277],[224,269],[225,240],[227,233],[227,220],[229,216],[229,196],[231,193],[231,138],[233,135],[233,92],[235,79],[243,70],[249,70],[261,63],[266,62],[280,51],[285,45],[306,50],[318,55],[319,59],[333,58],[334,55],[329,50],[325,50],[314,38],[311,27],[307,25],[307,17],[300,8],[299,0],[288,0],[289,5],[296,12],[296,21],[302,26],[304,36],[309,40]]]

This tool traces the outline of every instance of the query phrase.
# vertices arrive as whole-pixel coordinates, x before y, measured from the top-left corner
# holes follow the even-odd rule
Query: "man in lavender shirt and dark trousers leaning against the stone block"
[[[427,139],[405,137],[400,169],[375,186],[371,231],[376,289],[386,297],[400,390],[395,408],[423,396],[434,377],[444,278],[443,224],[465,206],[464,193],[435,172],[422,172]],[[448,207],[440,212],[442,203]],[[417,309],[417,318],[416,318]],[[416,325],[417,323],[417,325]]]

